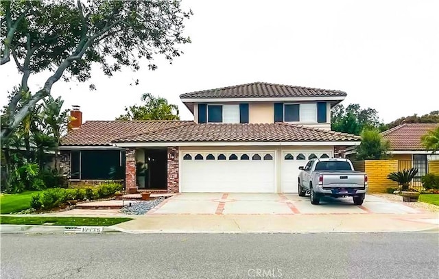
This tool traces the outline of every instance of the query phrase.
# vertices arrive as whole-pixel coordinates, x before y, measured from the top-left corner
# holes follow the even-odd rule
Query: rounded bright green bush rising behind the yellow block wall
[[[361,143],[357,147],[357,160],[379,160],[388,156],[390,143],[384,141],[377,128],[361,132]]]

